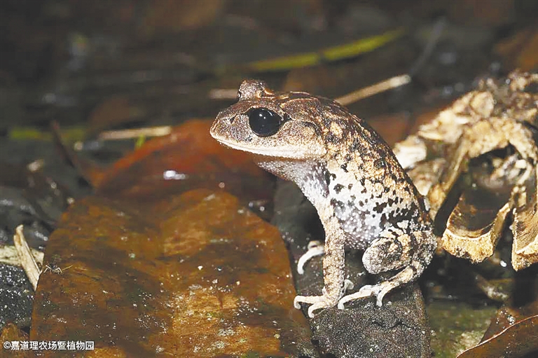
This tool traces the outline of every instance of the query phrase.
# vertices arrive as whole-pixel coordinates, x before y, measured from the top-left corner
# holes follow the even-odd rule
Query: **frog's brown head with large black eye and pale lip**
[[[211,128],[214,139],[260,156],[309,160],[326,154],[320,125],[323,104],[305,92],[277,93],[257,80],[243,81],[239,101],[221,111]]]

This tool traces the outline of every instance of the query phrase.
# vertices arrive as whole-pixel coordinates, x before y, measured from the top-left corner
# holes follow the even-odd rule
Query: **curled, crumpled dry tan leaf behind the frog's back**
[[[432,217],[439,222],[448,209],[441,246],[450,254],[483,261],[510,217],[513,268],[538,262],[537,85],[538,74],[520,71],[482,81],[396,144]]]

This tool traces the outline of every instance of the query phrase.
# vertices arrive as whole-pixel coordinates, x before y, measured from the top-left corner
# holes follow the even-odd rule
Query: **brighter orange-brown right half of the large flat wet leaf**
[[[312,354],[275,227],[209,191],[181,195],[161,227],[178,356]]]

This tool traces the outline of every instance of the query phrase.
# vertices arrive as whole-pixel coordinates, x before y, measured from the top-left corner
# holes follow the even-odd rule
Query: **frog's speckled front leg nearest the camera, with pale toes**
[[[314,317],[315,310],[336,306],[345,290],[353,287],[352,282],[344,280],[345,253],[344,246],[338,241],[338,237],[326,235],[324,251],[322,296],[296,296],[294,300],[295,308],[301,308],[301,303],[311,304],[308,308],[310,318]]]

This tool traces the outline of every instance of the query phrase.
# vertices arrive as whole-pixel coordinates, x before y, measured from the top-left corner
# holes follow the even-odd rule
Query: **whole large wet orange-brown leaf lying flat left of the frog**
[[[79,200],[45,261],[61,270],[40,277],[31,340],[91,339],[104,356],[315,356],[280,233],[229,194]]]

